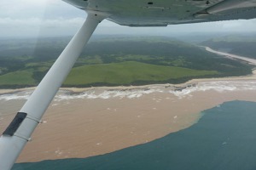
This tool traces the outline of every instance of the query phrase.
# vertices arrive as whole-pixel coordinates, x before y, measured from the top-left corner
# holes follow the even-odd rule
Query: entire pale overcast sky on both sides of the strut
[[[49,37],[73,35],[79,30],[86,13],[61,0],[1,0],[0,37]],[[156,28],[131,28],[104,20],[96,34],[155,34],[255,31],[256,20],[219,21],[193,25]]]

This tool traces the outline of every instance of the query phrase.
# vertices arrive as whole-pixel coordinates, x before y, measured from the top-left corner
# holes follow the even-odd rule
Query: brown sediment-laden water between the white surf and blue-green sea
[[[237,83],[237,82],[230,82]],[[199,84],[200,85],[200,84]],[[158,85],[152,85],[158,86]],[[150,86],[147,86],[150,89]],[[256,101],[254,90],[235,91],[194,91],[177,96],[169,91],[173,87],[159,85],[159,91],[140,97],[116,97],[109,99],[62,99],[54,101],[32,135],[32,142],[26,144],[18,162],[43,161],[71,157],[102,155],[136,144],[159,139],[193,125],[201,117],[201,111],[210,109],[230,100]],[[182,86],[181,92],[187,88]],[[114,88],[115,90],[136,91],[142,88]],[[188,89],[196,88],[195,85]],[[97,91],[113,88],[90,88]],[[79,95],[81,91],[69,93]],[[179,90],[177,90],[179,92]],[[62,92],[62,93],[67,93]],[[10,100],[5,104],[15,101]],[[18,101],[16,101],[18,102]],[[20,104],[24,102],[20,101]],[[3,105],[3,104],[2,104]],[[10,109],[9,109],[10,110]],[[13,108],[13,113],[17,107]],[[8,126],[14,114],[4,113],[0,129]]]

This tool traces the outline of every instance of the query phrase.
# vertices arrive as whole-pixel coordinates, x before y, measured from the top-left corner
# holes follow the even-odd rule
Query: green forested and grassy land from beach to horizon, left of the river
[[[69,39],[2,40],[0,88],[37,85]],[[178,83],[195,77],[247,75],[251,69],[170,37],[94,37],[64,86]]]

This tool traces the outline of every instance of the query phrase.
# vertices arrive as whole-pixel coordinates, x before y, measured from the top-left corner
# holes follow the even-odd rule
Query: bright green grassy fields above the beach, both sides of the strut
[[[4,74],[0,76],[0,86],[3,88],[35,86],[37,82],[35,74],[42,73],[44,69],[42,70],[41,68]],[[216,77],[218,74],[218,71],[197,71],[176,66],[150,65],[137,61],[125,61],[75,67],[68,75],[63,86],[89,87],[99,85],[141,85],[157,82],[175,83],[188,81],[193,77]]]

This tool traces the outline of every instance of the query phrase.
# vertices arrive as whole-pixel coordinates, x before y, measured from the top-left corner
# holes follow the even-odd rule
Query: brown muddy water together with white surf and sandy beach
[[[0,89],[1,133],[33,89]],[[190,127],[201,111],[231,100],[256,102],[255,96],[256,71],[181,84],[61,88],[18,162],[84,158],[144,144]]]

